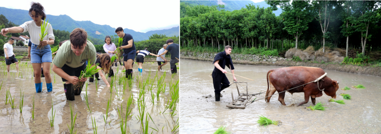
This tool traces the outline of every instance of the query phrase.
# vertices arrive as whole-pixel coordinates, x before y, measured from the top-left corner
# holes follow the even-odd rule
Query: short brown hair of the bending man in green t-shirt
[[[87,42],[87,32],[82,28],[75,28],[70,33],[70,42],[74,47],[79,48]]]

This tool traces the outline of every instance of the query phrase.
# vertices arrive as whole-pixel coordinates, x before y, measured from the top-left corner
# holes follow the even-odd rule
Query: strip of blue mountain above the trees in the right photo
[[[265,1],[260,3],[254,3],[252,1],[181,1],[184,3],[189,3],[190,5],[204,5],[204,6],[217,6],[217,5],[225,5],[225,10],[233,11],[240,10],[242,8],[246,8],[246,5],[251,4],[255,6],[259,6],[260,8],[268,8],[270,5],[266,4]],[[278,8],[277,11],[273,11],[275,16],[279,16],[282,13],[282,10]]]

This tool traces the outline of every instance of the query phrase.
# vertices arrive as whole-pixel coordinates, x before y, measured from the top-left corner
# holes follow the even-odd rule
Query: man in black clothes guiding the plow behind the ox
[[[222,97],[220,92],[230,86],[230,82],[225,75],[225,73],[227,73],[227,71],[225,70],[225,66],[228,66],[228,68],[232,72],[233,80],[237,81],[237,78],[234,76],[234,66],[232,58],[230,57],[230,53],[232,53],[232,47],[226,46],[225,51],[218,53],[214,57],[214,70],[212,72],[212,78],[216,102],[218,102],[219,98]]]

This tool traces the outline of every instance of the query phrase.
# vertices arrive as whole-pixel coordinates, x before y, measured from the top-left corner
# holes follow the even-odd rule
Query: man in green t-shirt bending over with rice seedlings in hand
[[[95,65],[96,49],[94,45],[87,40],[87,32],[84,29],[76,28],[70,33],[70,40],[62,44],[58,49],[57,55],[53,60],[53,71],[62,77],[63,88],[66,99],[74,101],[74,95],[80,95],[82,87],[87,78],[81,78],[79,75],[85,70],[87,60],[91,66]],[[83,84],[74,86],[79,81]],[[77,88],[74,88],[77,87]]]

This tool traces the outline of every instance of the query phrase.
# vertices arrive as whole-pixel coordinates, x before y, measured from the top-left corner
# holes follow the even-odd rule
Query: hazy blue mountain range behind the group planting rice
[[[3,14],[9,21],[15,23],[16,25],[21,25],[24,22],[31,20],[27,10],[0,7],[0,14]],[[87,34],[90,37],[99,38],[102,40],[105,39],[106,35],[116,35],[116,28],[109,25],[99,25],[92,23],[91,21],[76,21],[67,15],[46,15],[46,18],[56,30],[58,29],[71,32],[73,29],[81,27],[87,31]],[[124,28],[123,30],[125,33],[130,33],[133,35],[134,40],[140,41],[148,39],[149,36],[154,33],[165,34],[167,36],[179,36],[179,28],[180,27],[177,26],[170,29],[148,31],[146,33],[137,32],[128,28]]]

